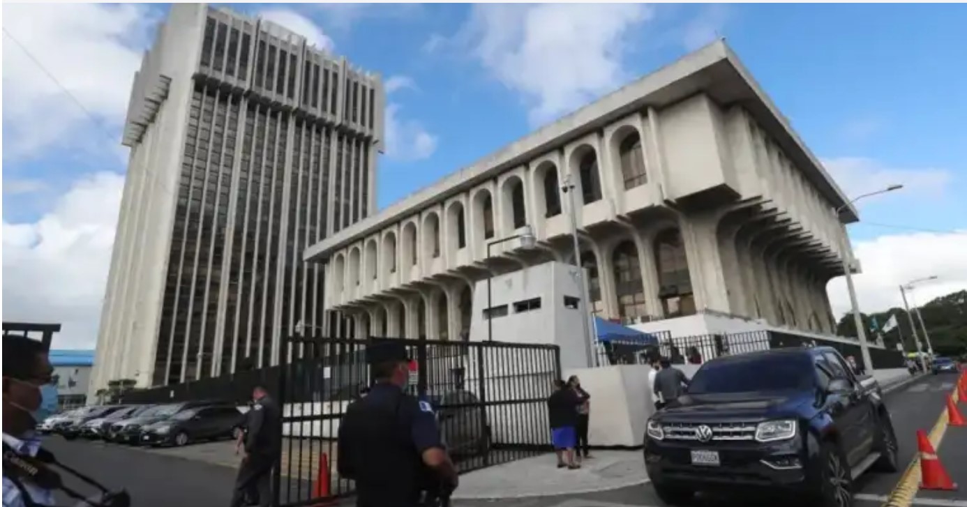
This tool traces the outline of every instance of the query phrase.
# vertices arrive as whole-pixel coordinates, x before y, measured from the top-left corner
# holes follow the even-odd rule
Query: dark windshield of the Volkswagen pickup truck
[[[815,385],[808,354],[736,355],[705,363],[689,394],[725,394],[810,389]]]

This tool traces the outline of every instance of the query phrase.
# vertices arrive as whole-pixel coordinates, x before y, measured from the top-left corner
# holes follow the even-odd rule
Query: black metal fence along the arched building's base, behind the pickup
[[[597,348],[598,365],[646,364],[649,357],[666,357],[672,364],[701,364],[721,355],[768,351],[785,347],[833,347],[843,356],[852,355],[863,364],[863,353],[858,342],[843,342],[816,338],[811,335],[779,331],[748,331],[742,333],[671,336],[668,332],[649,333],[659,337],[658,345],[644,345],[639,341],[610,340]],[[874,369],[903,368],[902,352],[870,347]],[[870,371],[869,368],[866,368]]]

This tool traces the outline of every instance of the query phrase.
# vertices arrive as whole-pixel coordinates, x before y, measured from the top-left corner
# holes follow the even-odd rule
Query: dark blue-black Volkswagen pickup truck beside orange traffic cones
[[[648,476],[668,505],[701,492],[850,507],[860,474],[897,469],[880,387],[831,348],[713,359],[672,405],[648,420],[644,445]]]

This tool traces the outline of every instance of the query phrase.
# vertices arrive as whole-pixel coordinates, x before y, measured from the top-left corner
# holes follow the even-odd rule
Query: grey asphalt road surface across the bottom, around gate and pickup
[[[916,452],[916,431],[929,432],[942,410],[946,409],[947,395],[953,389],[953,376],[927,376],[901,387],[886,396],[899,438],[902,468],[913,459]],[[959,404],[967,412],[967,403]],[[208,465],[173,456],[145,453],[123,446],[103,445],[83,440],[66,441],[50,437],[45,442],[58,459],[75,465],[108,487],[127,488],[132,494],[132,507],[218,507],[228,505],[235,471],[223,465]],[[941,461],[951,473],[953,480],[961,485],[957,493],[921,493],[918,498],[942,500],[943,503],[916,503],[914,505],[941,505],[944,507],[967,507],[967,428],[950,427],[938,449]],[[867,474],[858,483],[859,507],[872,507],[894,488],[901,473]],[[69,483],[76,484],[74,481]],[[81,491],[91,491],[80,488]],[[717,507],[753,507],[747,500],[736,505],[724,500],[711,499]],[[62,502],[71,505],[70,502]],[[501,499],[494,501],[458,501],[456,507],[483,507],[500,505],[507,507],[623,507],[661,505],[651,487],[640,486],[610,492],[549,496],[524,499]],[[765,507],[765,506],[764,506]],[[770,505],[768,507],[775,507]]]

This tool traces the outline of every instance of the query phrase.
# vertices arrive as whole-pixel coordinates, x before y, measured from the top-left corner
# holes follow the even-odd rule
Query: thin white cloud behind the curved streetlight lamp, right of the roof
[[[903,184],[902,198],[931,198],[943,195],[954,177],[947,169],[895,168],[860,156],[825,158],[823,165],[846,195],[854,197],[887,186]]]

